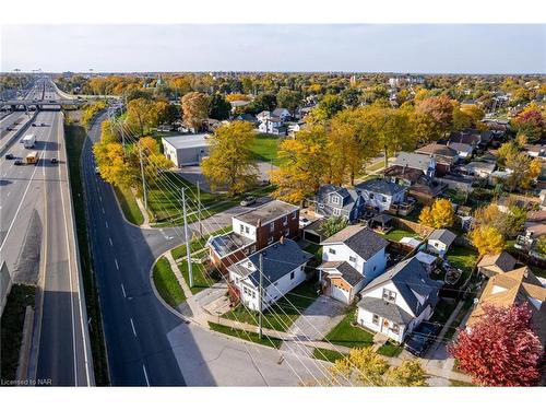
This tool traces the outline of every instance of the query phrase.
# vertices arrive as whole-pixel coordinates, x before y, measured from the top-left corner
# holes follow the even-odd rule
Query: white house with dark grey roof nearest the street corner
[[[260,308],[260,255],[262,255],[262,311],[273,305],[306,280],[305,266],[312,255],[292,239],[281,241],[227,268],[229,285],[240,302],[252,311]]]

